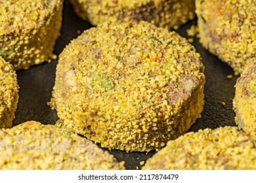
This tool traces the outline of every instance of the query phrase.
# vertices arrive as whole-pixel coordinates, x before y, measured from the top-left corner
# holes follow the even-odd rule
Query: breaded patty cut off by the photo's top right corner
[[[196,0],[203,47],[228,63],[236,75],[256,52],[256,1]]]

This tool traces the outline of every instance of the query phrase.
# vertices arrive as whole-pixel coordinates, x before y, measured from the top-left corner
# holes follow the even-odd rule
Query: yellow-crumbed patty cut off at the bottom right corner
[[[200,129],[169,141],[142,169],[256,169],[256,137],[238,127]]]

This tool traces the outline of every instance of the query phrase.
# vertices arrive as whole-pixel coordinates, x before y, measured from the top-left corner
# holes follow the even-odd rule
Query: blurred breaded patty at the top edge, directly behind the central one
[[[71,0],[75,12],[93,25],[110,21],[148,21],[177,29],[195,16],[194,0]]]

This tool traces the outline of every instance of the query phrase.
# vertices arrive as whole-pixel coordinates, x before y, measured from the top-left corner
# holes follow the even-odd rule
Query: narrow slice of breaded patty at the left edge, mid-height
[[[12,65],[0,56],[0,129],[12,127],[17,103],[17,75]]]

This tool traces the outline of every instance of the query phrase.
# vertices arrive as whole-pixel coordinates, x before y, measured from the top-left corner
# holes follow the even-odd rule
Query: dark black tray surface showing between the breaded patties
[[[196,19],[183,25],[177,32],[182,37],[188,37],[186,29],[196,25]],[[64,1],[61,37],[56,42],[54,53],[62,52],[63,48],[79,33],[92,27],[89,22],[79,18],[69,1]],[[226,63],[221,62],[207,50],[203,49],[198,39],[194,37],[192,43],[201,54],[205,65],[205,106],[202,118],[198,119],[189,131],[198,129],[216,128],[224,125],[234,124],[234,111],[232,110],[232,99],[234,98],[234,84],[238,76]],[[36,65],[28,70],[17,71],[18,84],[20,85],[20,99],[16,110],[16,118],[13,125],[18,125],[28,120],[35,120],[42,124],[55,124],[58,120],[55,110],[47,105],[51,99],[54,86],[55,71],[58,59],[51,63]],[[233,75],[231,79],[227,75]],[[226,105],[223,105],[223,102]],[[104,150],[107,150],[104,148]],[[118,161],[125,161],[126,169],[140,169],[140,161],[146,161],[156,152],[123,152],[119,150],[108,150]]]

